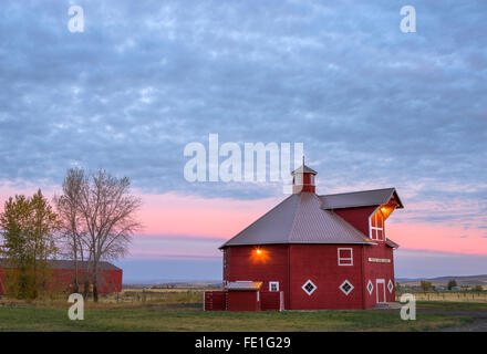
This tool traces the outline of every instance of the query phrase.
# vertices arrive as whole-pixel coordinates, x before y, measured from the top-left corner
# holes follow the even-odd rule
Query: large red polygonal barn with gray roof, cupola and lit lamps
[[[279,292],[286,310],[394,302],[398,246],[386,237],[385,220],[403,208],[396,190],[318,196],[314,170],[302,165],[292,175],[293,194],[220,247],[227,306],[241,281],[261,282],[257,292],[266,296]],[[259,305],[252,295],[239,299],[253,301],[240,309]]]

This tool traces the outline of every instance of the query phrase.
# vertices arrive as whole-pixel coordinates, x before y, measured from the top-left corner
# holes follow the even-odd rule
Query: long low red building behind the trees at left
[[[6,283],[6,269],[8,269],[8,262],[0,259],[0,295],[8,292],[8,287]],[[49,268],[51,273],[51,279],[49,287],[53,291],[58,292],[72,292],[72,284],[74,279],[74,262],[66,260],[50,260]],[[81,269],[85,268],[84,262],[79,262],[79,279],[81,289],[83,289],[82,279],[83,271]],[[112,293],[122,291],[122,269],[113,266],[108,262],[100,262],[99,271],[99,293]],[[82,290],[80,290],[81,292]]]

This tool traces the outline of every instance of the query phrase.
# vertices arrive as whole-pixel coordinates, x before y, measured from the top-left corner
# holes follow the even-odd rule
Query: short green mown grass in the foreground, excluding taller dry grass
[[[0,331],[427,331],[470,321],[425,314],[402,321],[379,311],[204,312],[200,306],[89,309],[84,321],[70,321],[66,309],[0,308]]]

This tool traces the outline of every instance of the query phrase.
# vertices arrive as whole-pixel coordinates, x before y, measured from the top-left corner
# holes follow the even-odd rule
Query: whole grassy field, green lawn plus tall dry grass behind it
[[[84,321],[70,321],[66,295],[33,302],[2,298],[0,331],[429,331],[473,320],[450,311],[487,311],[487,303],[417,302],[417,320],[402,321],[400,310],[205,312],[201,300],[201,289],[131,290],[86,302]]]

